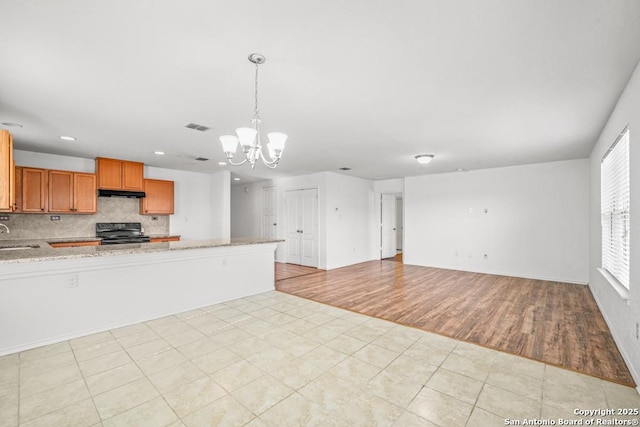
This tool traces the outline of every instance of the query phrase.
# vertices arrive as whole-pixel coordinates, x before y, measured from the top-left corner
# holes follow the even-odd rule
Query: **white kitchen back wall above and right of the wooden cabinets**
[[[16,165],[95,172],[95,160],[15,150]],[[229,237],[230,173],[213,175],[145,166],[145,178],[175,181],[175,214],[170,232],[183,240]]]

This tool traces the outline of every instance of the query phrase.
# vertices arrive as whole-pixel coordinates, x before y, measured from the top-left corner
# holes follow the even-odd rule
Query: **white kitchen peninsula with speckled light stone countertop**
[[[0,250],[0,355],[273,290],[277,242],[20,241],[39,247]]]

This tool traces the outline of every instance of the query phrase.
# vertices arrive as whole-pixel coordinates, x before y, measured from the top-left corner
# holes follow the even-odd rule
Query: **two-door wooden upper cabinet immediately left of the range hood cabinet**
[[[50,170],[49,212],[96,213],[95,174]]]

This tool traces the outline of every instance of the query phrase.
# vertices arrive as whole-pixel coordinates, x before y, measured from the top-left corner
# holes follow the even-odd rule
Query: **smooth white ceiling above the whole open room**
[[[636,0],[0,0],[0,11],[0,122],[23,125],[10,128],[19,150],[219,171],[218,137],[253,114],[247,56],[264,54],[263,130],[289,140],[275,171],[231,168],[243,182],[584,158],[640,60]],[[436,158],[420,166],[422,153]]]

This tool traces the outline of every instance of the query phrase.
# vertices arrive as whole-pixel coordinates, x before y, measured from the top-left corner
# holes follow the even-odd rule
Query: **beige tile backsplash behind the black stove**
[[[120,197],[98,197],[95,215],[8,214],[9,221],[0,221],[11,230],[0,233],[0,240],[94,237],[96,222],[140,222],[147,235],[168,235],[169,215],[140,215],[140,201]],[[57,215],[60,221],[51,221]]]

